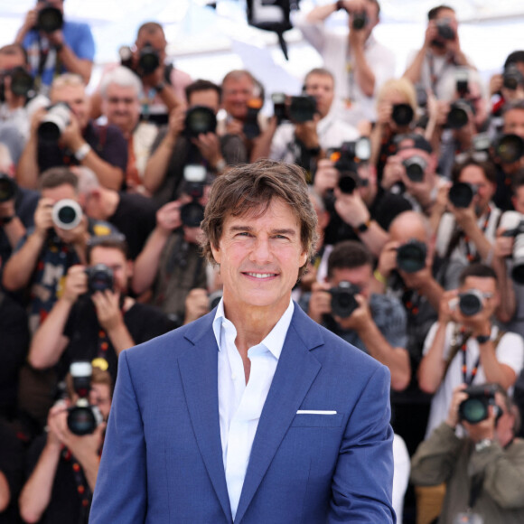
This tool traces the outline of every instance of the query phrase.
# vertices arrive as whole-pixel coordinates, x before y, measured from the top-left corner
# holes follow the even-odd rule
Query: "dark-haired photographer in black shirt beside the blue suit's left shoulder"
[[[156,308],[127,295],[133,264],[126,253],[121,235],[89,242],[88,267],[70,267],[60,299],[33,335],[28,360],[34,369],[54,366],[60,380],[71,361],[100,359],[116,379],[121,351],[173,327]]]

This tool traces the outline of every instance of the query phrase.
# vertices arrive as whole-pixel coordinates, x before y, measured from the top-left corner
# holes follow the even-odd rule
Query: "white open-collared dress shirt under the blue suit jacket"
[[[215,314],[213,332],[219,346],[220,439],[233,519],[239,507],[260,414],[266,403],[294,309],[295,305],[290,301],[267,337],[249,348],[251,370],[248,384],[242,358],[235,345],[237,330],[226,318],[222,300]]]

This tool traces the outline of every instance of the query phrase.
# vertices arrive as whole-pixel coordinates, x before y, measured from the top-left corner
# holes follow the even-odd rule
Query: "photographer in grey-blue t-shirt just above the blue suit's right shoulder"
[[[304,296],[304,310],[315,322],[388,366],[391,388],[402,390],[410,377],[404,349],[406,314],[396,299],[371,294],[372,263],[370,252],[359,242],[335,245],[327,280],[313,283],[311,295]]]

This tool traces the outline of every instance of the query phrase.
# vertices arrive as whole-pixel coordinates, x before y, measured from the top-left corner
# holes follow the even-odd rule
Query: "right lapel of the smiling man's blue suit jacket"
[[[307,345],[304,341],[308,341]],[[318,327],[295,304],[293,320],[258,422],[235,517],[236,523],[241,521],[248,509],[297,409],[321,369],[320,362],[309,350],[322,343]]]

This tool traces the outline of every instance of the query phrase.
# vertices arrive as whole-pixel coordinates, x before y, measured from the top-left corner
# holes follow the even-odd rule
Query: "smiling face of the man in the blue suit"
[[[224,304],[228,312],[284,313],[299,267],[307,259],[295,213],[273,199],[267,211],[224,220],[213,257],[220,264]]]

